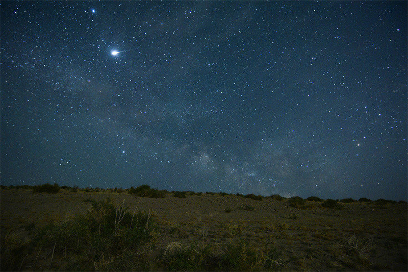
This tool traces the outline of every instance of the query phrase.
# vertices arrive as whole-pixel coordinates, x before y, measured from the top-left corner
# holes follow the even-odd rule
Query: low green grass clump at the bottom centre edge
[[[171,271],[265,271],[283,266],[277,261],[280,256],[273,248],[260,251],[243,241],[227,244],[221,250],[173,242],[167,246],[161,263]]]

